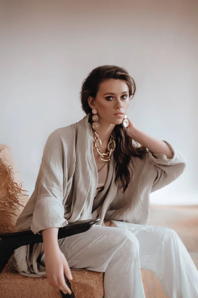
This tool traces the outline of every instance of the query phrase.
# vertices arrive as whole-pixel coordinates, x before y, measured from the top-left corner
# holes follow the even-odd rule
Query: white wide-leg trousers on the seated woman
[[[113,222],[58,240],[70,268],[105,272],[104,298],[145,298],[141,268],[169,298],[198,298],[198,270],[174,230]]]

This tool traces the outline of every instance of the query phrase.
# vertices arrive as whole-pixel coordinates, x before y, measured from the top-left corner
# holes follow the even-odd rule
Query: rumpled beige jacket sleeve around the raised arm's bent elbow
[[[186,158],[167,141],[163,142],[170,147],[173,152],[173,157],[168,158],[165,154],[154,154],[148,150],[148,159],[156,169],[156,177],[153,181],[151,192],[154,192],[176,180],[183,173],[186,167]]]

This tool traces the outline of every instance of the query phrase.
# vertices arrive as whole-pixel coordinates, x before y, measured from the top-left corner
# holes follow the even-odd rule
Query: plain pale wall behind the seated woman
[[[128,115],[187,158],[158,204],[198,204],[198,1],[1,1],[0,144],[13,150],[31,195],[43,147],[79,121],[83,79],[125,67],[137,83]]]

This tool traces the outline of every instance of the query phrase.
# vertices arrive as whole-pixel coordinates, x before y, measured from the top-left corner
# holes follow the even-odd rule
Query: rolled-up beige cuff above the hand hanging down
[[[63,227],[68,224],[64,218],[64,207],[57,199],[43,198],[35,206],[30,229],[34,234],[42,234],[49,227]]]

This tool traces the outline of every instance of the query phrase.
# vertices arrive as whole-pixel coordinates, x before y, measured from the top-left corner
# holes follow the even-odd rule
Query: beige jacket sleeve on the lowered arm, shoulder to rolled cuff
[[[30,225],[34,234],[49,227],[63,227],[63,142],[59,130],[52,132],[46,142],[37,178],[38,196]]]

